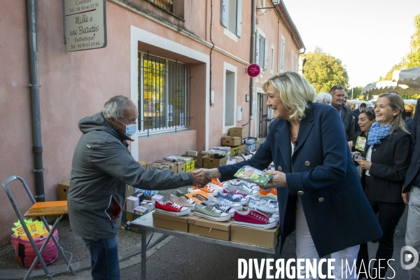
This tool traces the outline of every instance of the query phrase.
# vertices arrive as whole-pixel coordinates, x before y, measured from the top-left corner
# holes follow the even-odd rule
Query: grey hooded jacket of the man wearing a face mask
[[[83,135],[73,155],[67,204],[71,230],[85,239],[117,234],[127,185],[168,190],[193,184],[190,173],[141,167],[127,148],[130,138],[102,113],[80,120],[79,129]]]

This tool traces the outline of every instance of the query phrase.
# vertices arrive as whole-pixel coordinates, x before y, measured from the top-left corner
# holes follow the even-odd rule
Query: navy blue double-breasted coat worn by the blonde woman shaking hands
[[[244,165],[262,170],[274,161],[276,169],[286,173],[287,181],[287,188],[277,188],[280,250],[295,230],[296,200],[300,195],[316,251],[323,257],[377,239],[382,231],[360,185],[337,110],[326,104],[308,105],[293,157],[290,124],[276,119],[250,160],[218,169],[224,181]]]

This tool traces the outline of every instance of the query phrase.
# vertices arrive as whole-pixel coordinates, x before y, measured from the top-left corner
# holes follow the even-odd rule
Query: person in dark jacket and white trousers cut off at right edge
[[[416,108],[420,108],[420,99],[417,99]],[[405,109],[408,111],[407,108]],[[420,255],[420,122],[419,112],[416,110],[412,118],[411,137],[414,144],[412,161],[405,176],[402,199],[408,204],[407,230],[405,231],[405,245],[411,246]],[[420,262],[412,269],[408,269],[409,280],[420,279]]]

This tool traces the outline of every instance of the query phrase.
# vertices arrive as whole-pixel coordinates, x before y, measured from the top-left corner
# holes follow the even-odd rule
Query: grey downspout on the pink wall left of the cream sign
[[[36,6],[35,0],[27,0],[28,43],[29,43],[29,87],[31,88],[32,111],[32,141],[35,164],[35,192],[36,201],[45,201],[43,186],[42,143],[41,143],[41,109],[39,102],[38,75],[38,42],[36,34]]]

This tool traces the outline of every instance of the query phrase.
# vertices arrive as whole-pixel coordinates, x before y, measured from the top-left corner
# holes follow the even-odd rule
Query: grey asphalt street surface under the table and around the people
[[[185,188],[184,188],[185,189]],[[161,194],[167,197],[174,191],[165,191]],[[395,270],[387,272],[388,279],[408,279],[407,272],[400,267],[400,248],[404,246],[407,211],[402,216],[400,225],[395,233],[395,244],[391,266]],[[140,235],[135,232],[120,230],[118,233],[120,248],[121,279],[139,279],[141,272]],[[73,253],[73,263],[76,276],[67,273],[54,279],[87,280],[90,277],[89,253],[80,237],[74,235],[69,229],[69,223],[62,221],[59,224],[59,242],[64,251]],[[163,241],[162,241],[163,240]],[[377,243],[369,244],[370,258],[374,258]],[[237,279],[238,258],[267,258],[265,253],[257,253],[238,248],[230,248],[216,244],[190,241],[181,237],[169,237],[155,234],[148,246],[148,260],[146,279]],[[281,258],[295,258],[295,238],[288,237]],[[64,261],[57,260],[50,269],[59,272],[65,269]],[[389,269],[388,269],[389,270]],[[11,245],[0,248],[0,279],[22,279],[27,269],[22,269],[15,261]],[[34,272],[34,276],[42,277],[43,271]],[[253,274],[255,278],[255,272]],[[247,278],[248,279],[248,278]],[[285,278],[288,279],[288,278]]]

